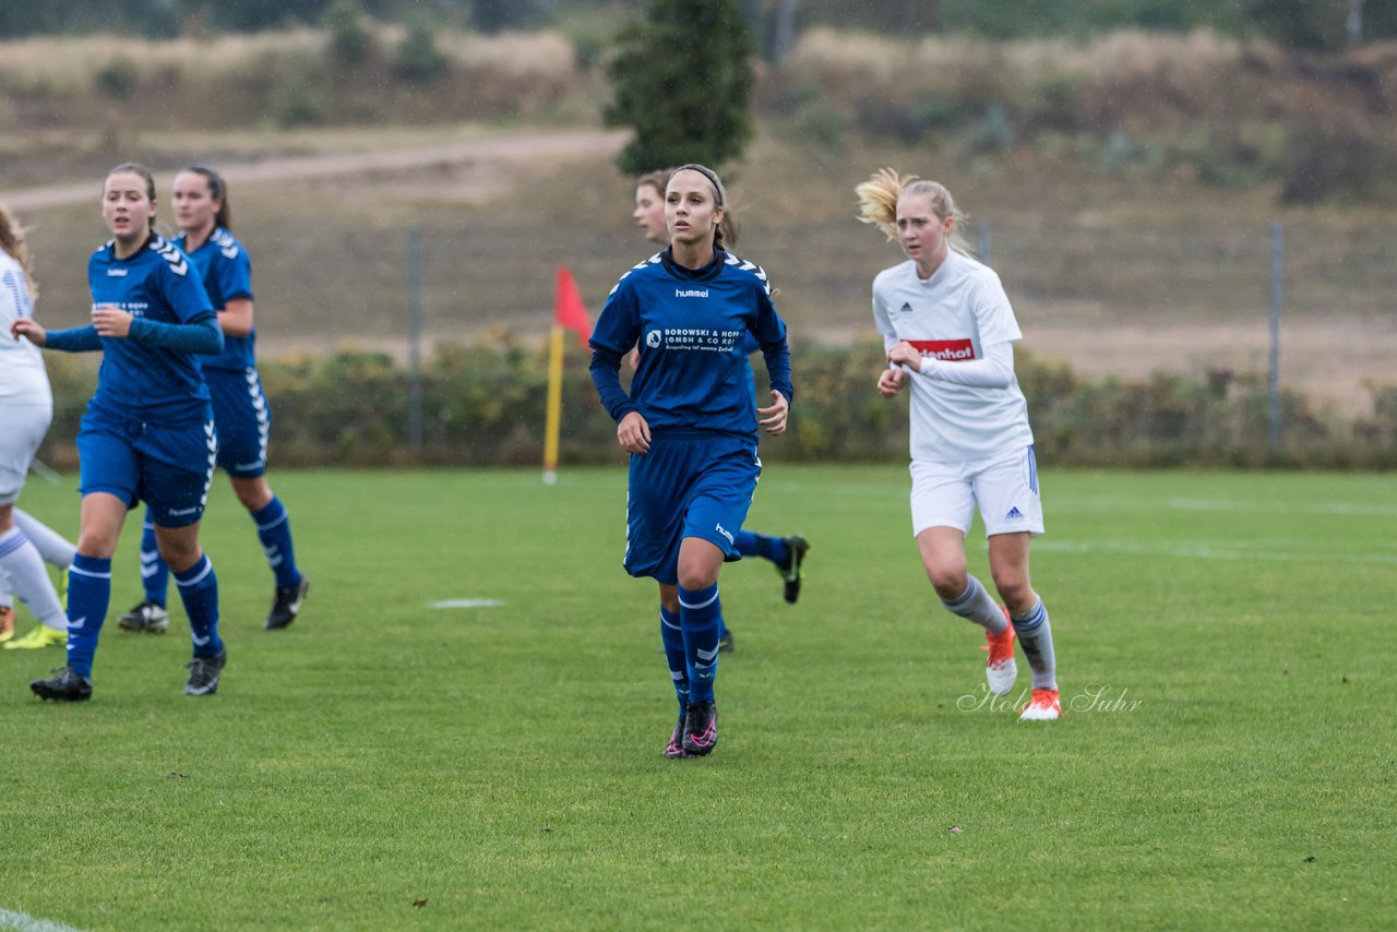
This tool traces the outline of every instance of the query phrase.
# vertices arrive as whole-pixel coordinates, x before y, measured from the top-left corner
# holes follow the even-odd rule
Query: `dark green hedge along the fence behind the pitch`
[[[573,342],[567,352],[562,458],[619,460],[615,426],[597,404],[585,354]],[[792,429],[763,442],[763,457],[868,461],[907,456],[907,400],[884,401],[873,388],[883,358],[879,344],[796,344],[792,355]],[[1281,443],[1270,450],[1267,391],[1259,376],[1214,372],[1088,381],[1027,354],[1018,354],[1017,366],[1045,463],[1397,467],[1397,386],[1375,393],[1372,412],[1359,418],[1343,418],[1284,393]],[[443,347],[423,363],[418,454],[408,446],[408,373],[388,356],[303,356],[264,362],[261,373],[274,409],[272,461],[281,465],[524,465],[542,458],[545,351],[507,335]],[[49,374],[54,425],[41,457],[71,467],[73,437],[95,381],[94,361],[50,354]]]

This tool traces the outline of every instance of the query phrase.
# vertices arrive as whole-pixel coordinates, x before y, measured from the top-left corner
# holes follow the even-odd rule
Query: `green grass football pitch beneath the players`
[[[1397,925],[1391,476],[1049,469],[1067,714],[1027,725],[978,704],[905,469],[771,467],[749,527],[810,537],[805,594],[724,570],[721,742],[682,762],[620,467],[274,479],[310,599],[261,630],[219,485],[217,696],[180,692],[183,612],[109,616],[88,704],[0,651],[0,928]],[[75,531],[71,485],[24,503]]]

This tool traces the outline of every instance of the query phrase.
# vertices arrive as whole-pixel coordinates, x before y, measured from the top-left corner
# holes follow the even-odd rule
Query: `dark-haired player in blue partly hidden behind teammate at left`
[[[228,474],[233,493],[251,516],[277,580],[264,627],[286,627],[296,620],[310,584],[296,566],[286,509],[267,485],[271,407],[257,376],[251,261],[243,245],[229,232],[232,210],[222,175],[204,165],[186,168],[175,176],[172,201],[175,222],[180,228],[173,242],[194,263],[224,330],[224,352],[200,361],[218,428],[218,465]],[[161,634],[169,625],[165,611],[169,567],[155,545],[149,509],[141,535],[141,583],[145,598],[117,623],[129,632]]]

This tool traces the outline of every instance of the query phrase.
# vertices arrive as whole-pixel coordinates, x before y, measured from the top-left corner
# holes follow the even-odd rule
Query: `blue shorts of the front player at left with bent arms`
[[[212,412],[172,428],[88,409],[78,428],[78,492],[106,492],[127,507],[145,502],[156,525],[186,527],[204,517],[217,454]]]

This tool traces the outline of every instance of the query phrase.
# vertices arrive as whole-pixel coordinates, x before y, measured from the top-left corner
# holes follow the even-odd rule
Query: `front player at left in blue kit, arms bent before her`
[[[88,260],[92,323],[54,331],[32,317],[10,324],[13,337],[39,347],[102,354],[78,429],[82,518],[68,570],[68,662],[29,687],[59,701],[92,697],[112,555],[127,510],[144,499],[193,634],[184,692],[208,696],[228,654],[218,636],[218,578],[198,545],[218,440],[196,354],[222,352],[224,334],[189,257],[154,232],[149,169],[126,162],[108,173],[102,218],[112,239]]]

